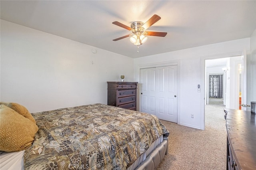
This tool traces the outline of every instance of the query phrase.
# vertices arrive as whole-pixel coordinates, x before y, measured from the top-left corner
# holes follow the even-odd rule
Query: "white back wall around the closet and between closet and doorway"
[[[205,70],[204,60],[218,56],[241,55],[244,48],[250,49],[250,38],[136,58],[134,59],[135,80],[140,79],[140,65],[179,60],[178,123],[204,129],[204,101],[201,101],[204,94],[197,92],[198,84],[204,92],[205,75],[202,74]],[[191,114],[194,114],[194,119],[191,118]]]

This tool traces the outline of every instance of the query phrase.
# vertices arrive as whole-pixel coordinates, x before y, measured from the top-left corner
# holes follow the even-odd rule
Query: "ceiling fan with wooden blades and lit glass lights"
[[[112,22],[112,24],[115,24],[117,26],[120,26],[132,32],[132,34],[128,34],[126,36],[116,38],[113,41],[118,41],[123,38],[130,37],[130,42],[132,42],[134,45],[141,45],[142,43],[146,42],[146,40],[148,39],[146,36],[165,37],[167,32],[145,31],[160,19],[161,19],[160,16],[154,14],[147,22],[143,23],[140,21],[136,21],[131,24],[131,27],[128,27],[118,21]]]

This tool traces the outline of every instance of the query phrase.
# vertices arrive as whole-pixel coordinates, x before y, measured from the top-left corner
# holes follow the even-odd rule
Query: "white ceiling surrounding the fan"
[[[1,0],[0,6],[3,20],[133,58],[248,38],[256,29],[255,0]],[[130,26],[154,14],[161,20],[148,31],[166,37],[148,36],[139,53],[129,38],[112,41],[130,34],[112,22]]]

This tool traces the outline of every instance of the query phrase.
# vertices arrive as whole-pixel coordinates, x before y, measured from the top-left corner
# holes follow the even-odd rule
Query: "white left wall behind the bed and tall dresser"
[[[133,59],[1,20],[0,101],[30,112],[107,104],[106,81],[134,81]]]

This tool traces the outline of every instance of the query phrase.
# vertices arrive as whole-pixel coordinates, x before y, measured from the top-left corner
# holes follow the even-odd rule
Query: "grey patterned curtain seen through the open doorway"
[[[223,75],[209,75],[209,97],[223,98]]]

